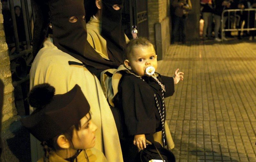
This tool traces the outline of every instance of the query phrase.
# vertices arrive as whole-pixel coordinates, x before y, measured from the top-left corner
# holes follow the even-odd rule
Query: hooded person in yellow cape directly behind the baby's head
[[[86,21],[90,20],[87,40],[103,58],[122,65],[124,47],[129,40],[122,27],[123,0],[88,0],[84,6],[88,10]],[[113,6],[118,6],[118,9]],[[98,18],[95,14],[99,15]]]

